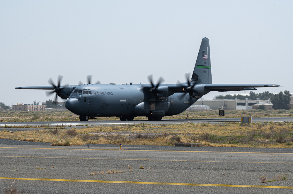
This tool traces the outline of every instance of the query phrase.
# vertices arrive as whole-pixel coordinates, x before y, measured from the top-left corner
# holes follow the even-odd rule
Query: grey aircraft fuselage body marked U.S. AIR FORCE
[[[159,99],[146,88],[151,85],[81,85],[73,90],[65,106],[77,115],[94,117],[164,117],[179,114],[197,101],[188,93]]]

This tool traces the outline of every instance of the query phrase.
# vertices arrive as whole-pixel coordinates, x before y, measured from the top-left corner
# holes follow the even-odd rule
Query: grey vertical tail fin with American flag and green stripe
[[[196,81],[197,84],[212,83],[211,58],[208,38],[202,39],[190,81]]]

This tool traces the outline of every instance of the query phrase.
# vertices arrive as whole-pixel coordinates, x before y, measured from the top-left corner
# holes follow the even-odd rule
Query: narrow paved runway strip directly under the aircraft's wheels
[[[182,123],[240,123],[241,118],[205,118],[205,119],[162,119],[161,121],[149,120],[133,120],[133,121],[120,121],[120,120],[89,120],[88,122],[81,121],[58,121],[58,122],[1,122],[0,127],[6,126],[95,126],[95,125],[134,125],[140,123],[147,123],[150,125],[172,125]],[[252,122],[293,122],[293,117],[261,117],[252,118]]]

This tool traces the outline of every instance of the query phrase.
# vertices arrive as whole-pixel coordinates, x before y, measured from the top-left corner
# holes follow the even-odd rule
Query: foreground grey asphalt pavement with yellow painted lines
[[[0,186],[26,193],[292,193],[289,149],[0,145]],[[113,173],[115,172],[115,173]],[[90,175],[92,174],[92,175]],[[258,177],[288,180],[261,183]]]

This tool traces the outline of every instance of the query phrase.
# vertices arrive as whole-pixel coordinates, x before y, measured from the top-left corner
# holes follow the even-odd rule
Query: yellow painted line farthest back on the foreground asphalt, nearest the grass
[[[121,151],[119,149],[80,149],[80,148],[24,148],[24,147],[0,147],[12,149],[51,149],[51,150],[87,150],[87,151]],[[220,152],[220,151],[176,151],[176,150],[123,150],[123,151],[145,151],[145,152],[195,152],[195,153],[250,153],[250,154],[293,154],[293,153],[277,153],[277,152]]]

